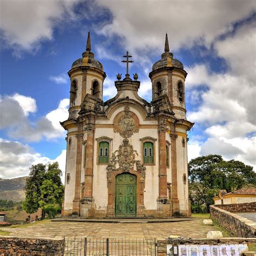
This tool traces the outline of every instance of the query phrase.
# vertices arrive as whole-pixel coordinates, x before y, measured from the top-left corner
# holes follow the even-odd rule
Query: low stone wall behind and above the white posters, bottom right
[[[220,238],[220,239],[192,239],[192,238],[167,238],[157,240],[157,255],[166,256],[167,245],[219,245],[219,244],[256,244],[256,238]]]

